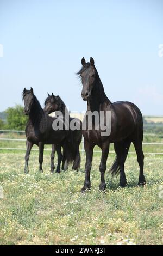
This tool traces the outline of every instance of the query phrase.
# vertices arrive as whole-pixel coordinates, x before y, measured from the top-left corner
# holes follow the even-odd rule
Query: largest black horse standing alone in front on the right
[[[101,129],[84,130],[84,147],[86,152],[85,163],[85,181],[82,192],[90,189],[90,170],[92,164],[93,148],[98,145],[102,149],[101,163],[99,170],[101,172],[101,183],[99,189],[104,191],[106,188],[105,183],[105,170],[106,161],[109,154],[109,145],[114,143],[116,159],[110,169],[112,175],[120,173],[120,186],[127,185],[126,175],[124,173],[124,163],[126,161],[128,150],[131,142],[133,142],[137,161],[140,166],[139,183],[138,185],[145,185],[146,180],[143,175],[144,155],[142,150],[143,141],[143,119],[142,114],[138,107],[131,102],[115,102],[111,103],[105,95],[103,84],[99,78],[98,72],[95,68],[94,60],[91,57],[90,63],[86,63],[82,59],[82,69],[77,73],[82,78],[82,98],[87,101],[87,112],[100,111],[111,112],[111,133],[109,136],[101,136]],[[99,121],[100,123],[100,121]]]

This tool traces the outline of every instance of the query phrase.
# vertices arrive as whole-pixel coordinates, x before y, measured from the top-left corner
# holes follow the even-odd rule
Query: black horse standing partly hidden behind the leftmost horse
[[[57,95],[49,95],[48,94],[48,97],[47,99],[45,100],[45,107],[43,109],[47,114],[50,114],[52,112],[55,112],[55,111],[59,111],[62,113],[63,117],[65,117],[65,111],[68,113],[68,110],[66,108],[66,105],[65,103],[61,100],[60,96]],[[69,113],[68,113],[68,122],[70,123],[72,120],[74,120],[74,118],[71,118],[69,116]],[[79,146],[80,146],[80,143],[82,141],[82,131],[81,131],[81,127],[82,127],[82,122],[76,118],[75,119],[79,126],[80,126],[80,130],[69,130],[68,132],[71,133],[71,138],[73,139],[73,144],[74,144],[74,153],[73,153],[73,166],[72,166],[72,169],[73,170],[78,170],[80,168],[80,152],[79,152]],[[64,149],[64,148],[63,148]],[[63,150],[63,159],[62,159],[62,170],[65,168],[65,154],[64,154],[64,151]]]

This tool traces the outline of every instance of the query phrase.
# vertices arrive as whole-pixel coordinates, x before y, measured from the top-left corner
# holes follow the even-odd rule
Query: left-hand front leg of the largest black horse
[[[83,186],[81,192],[84,192],[91,188],[90,171],[91,171],[91,167],[92,167],[92,157],[93,157],[94,145],[91,142],[88,142],[84,139],[84,148],[85,148],[85,153],[86,153],[85,180],[84,180],[84,186]]]

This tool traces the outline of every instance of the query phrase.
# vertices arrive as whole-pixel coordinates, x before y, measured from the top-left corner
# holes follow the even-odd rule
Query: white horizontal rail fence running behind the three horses
[[[24,131],[15,131],[15,130],[0,130],[1,132],[16,132],[16,133],[24,133]],[[144,136],[155,136],[155,137],[162,137],[162,134],[152,134],[152,133],[145,133]],[[16,138],[0,138],[0,141],[26,141],[26,139],[16,139]],[[143,145],[162,145],[163,143],[156,143],[156,142],[143,142]],[[7,147],[0,147],[0,150],[6,149],[6,150],[26,150],[26,148],[7,148]],[[33,150],[39,150],[39,149],[33,149]],[[51,149],[45,149],[46,151],[51,151]],[[84,139],[82,138],[82,149],[80,150],[82,152],[82,155],[84,155]],[[95,153],[101,153],[101,150],[94,150]],[[114,154],[115,151],[109,151],[109,153]],[[135,151],[131,152],[129,151],[129,154],[136,154]],[[153,155],[163,155],[163,152],[144,152],[144,154],[153,154]]]

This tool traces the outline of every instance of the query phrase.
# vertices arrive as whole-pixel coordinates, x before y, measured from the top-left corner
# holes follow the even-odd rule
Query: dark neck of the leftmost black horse
[[[39,124],[43,118],[45,118],[45,113],[35,97],[32,108],[30,109],[29,119],[32,121],[32,124],[35,125]]]

